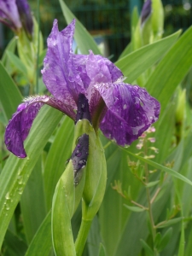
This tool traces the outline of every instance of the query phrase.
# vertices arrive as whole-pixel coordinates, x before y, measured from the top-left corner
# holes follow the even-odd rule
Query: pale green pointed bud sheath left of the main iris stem
[[[69,161],[59,179],[52,203],[51,230],[56,256],[75,256],[71,218],[75,204],[73,163]]]

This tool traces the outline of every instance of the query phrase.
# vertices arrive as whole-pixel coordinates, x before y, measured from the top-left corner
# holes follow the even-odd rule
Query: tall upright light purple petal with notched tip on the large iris
[[[44,84],[55,98],[75,107],[79,93],[85,93],[79,72],[73,65],[72,42],[75,20],[59,32],[57,20],[47,40],[48,50],[42,70]]]

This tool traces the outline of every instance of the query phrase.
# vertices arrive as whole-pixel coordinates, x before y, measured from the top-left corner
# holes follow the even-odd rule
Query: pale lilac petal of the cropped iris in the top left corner
[[[20,15],[15,0],[0,0],[0,21],[13,31],[20,31]]]

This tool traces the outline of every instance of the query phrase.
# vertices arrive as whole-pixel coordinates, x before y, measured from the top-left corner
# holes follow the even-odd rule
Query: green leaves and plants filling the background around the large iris
[[[73,13],[62,0],[59,2],[69,23]],[[48,15],[52,23],[55,17]],[[115,64],[123,71],[128,83],[145,86],[160,101],[160,119],[154,125],[155,132],[148,133],[140,142],[143,143],[141,149],[138,149],[138,141],[130,148],[119,148],[101,133],[108,182],[83,255],[190,255],[192,27],[183,33],[177,31],[170,35],[167,32],[169,36],[165,34],[164,38],[161,34],[159,38],[155,37],[153,29],[145,27],[143,30],[149,29],[153,40],[143,44],[139,41],[144,34],[138,33],[140,20],[137,12],[134,11],[129,19],[131,44]],[[158,24],[162,31],[161,23]],[[75,40],[82,53],[88,49],[100,51],[79,22],[76,29]],[[13,39],[0,64],[1,255],[54,255],[50,207],[55,185],[71,154],[73,122],[62,117],[57,110],[42,108],[26,139],[28,157],[20,160],[13,154],[9,155],[3,144],[5,125],[23,95],[30,93],[30,84],[23,75],[26,67],[16,58],[15,47]],[[39,68],[43,59],[44,51],[39,56]],[[46,91],[41,77],[38,85],[40,93]],[[37,86],[35,82],[34,86]],[[154,143],[151,143],[154,141],[151,138],[155,138]],[[72,219],[74,238],[78,234],[80,219],[79,207]]]

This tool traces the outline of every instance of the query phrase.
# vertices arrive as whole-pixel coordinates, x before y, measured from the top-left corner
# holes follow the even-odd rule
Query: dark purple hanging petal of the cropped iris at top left
[[[20,21],[22,26],[26,31],[26,35],[28,38],[32,38],[32,30],[33,30],[33,21],[32,21],[32,13],[29,7],[29,4],[26,0],[16,0],[17,9],[20,14]]]

